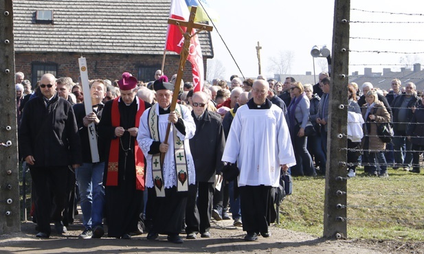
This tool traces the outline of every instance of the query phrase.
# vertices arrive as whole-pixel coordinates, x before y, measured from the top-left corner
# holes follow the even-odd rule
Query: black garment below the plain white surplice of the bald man
[[[247,233],[268,232],[271,222],[270,205],[274,204],[271,186],[241,186],[240,205],[243,231]]]

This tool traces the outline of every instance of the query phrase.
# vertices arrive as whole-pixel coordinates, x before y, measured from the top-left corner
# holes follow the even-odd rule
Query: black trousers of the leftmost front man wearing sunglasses
[[[36,192],[35,210],[38,230],[50,235],[50,221],[63,220],[63,211],[67,199],[67,178],[69,168],[30,167],[32,183]],[[53,194],[53,200],[52,200]],[[53,207],[54,204],[54,207]]]

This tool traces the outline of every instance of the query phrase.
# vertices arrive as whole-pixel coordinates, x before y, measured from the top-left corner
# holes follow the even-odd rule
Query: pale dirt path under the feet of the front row
[[[424,243],[370,240],[326,240],[306,233],[270,227],[271,237],[256,242],[243,240],[245,232],[232,226],[232,220],[212,220],[211,238],[184,240],[172,244],[166,235],[158,240],[146,240],[146,234],[135,235],[131,240],[104,237],[78,239],[83,227],[81,215],[67,227],[64,236],[54,233],[47,240],[35,237],[35,224],[23,222],[21,232],[0,235],[0,253],[424,253]]]

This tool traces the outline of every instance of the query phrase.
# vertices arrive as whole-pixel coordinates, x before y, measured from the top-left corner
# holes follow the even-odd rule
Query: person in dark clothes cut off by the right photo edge
[[[413,110],[414,111],[414,110]],[[406,129],[412,143],[412,173],[420,173],[420,153],[424,150],[424,100],[415,109],[412,120]]]

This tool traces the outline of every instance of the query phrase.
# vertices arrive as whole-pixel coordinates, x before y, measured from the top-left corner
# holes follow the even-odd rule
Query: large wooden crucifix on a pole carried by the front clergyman
[[[213,27],[210,25],[205,25],[201,23],[194,23],[194,17],[196,16],[196,6],[192,6],[190,10],[190,17],[188,18],[188,21],[181,21],[179,19],[168,19],[168,24],[170,25],[178,25],[180,27],[181,33],[183,30],[181,27],[187,27],[187,30],[185,33],[183,33],[184,37],[184,43],[183,43],[183,49],[181,50],[180,56],[179,56],[179,67],[177,72],[177,78],[175,79],[175,86],[174,86],[174,94],[172,95],[172,101],[170,104],[170,112],[175,111],[175,106],[177,106],[177,100],[178,100],[178,94],[179,89],[181,86],[181,79],[183,78],[183,71],[184,71],[184,65],[186,65],[186,60],[188,58],[188,50],[190,47],[190,41],[193,36],[198,34],[199,32],[206,30],[206,31],[212,31]],[[193,28],[197,29],[197,32],[192,34]],[[181,112],[182,113],[182,112]],[[168,143],[169,138],[169,132],[170,132],[170,126],[171,123],[168,122],[168,127],[166,128],[166,135],[165,135],[165,141],[164,143]],[[161,153],[161,166],[164,165],[164,158],[165,153]]]

